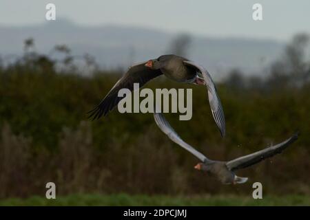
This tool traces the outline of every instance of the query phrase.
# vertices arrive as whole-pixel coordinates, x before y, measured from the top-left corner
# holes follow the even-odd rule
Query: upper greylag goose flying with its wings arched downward
[[[211,112],[222,137],[224,137],[225,117],[223,107],[209,72],[194,62],[173,54],[159,56],[156,59],[130,67],[126,74],[112,87],[107,96],[103,98],[100,104],[88,112],[90,113],[90,118],[93,120],[99,119],[102,115],[106,115],[111,111],[123,98],[118,97],[118,91],[120,89],[127,88],[132,91],[134,89],[134,83],[139,83],[139,86],[143,87],[149,80],[163,74],[167,78],[177,82],[207,86]],[[201,74],[203,78],[200,78],[198,74]]]

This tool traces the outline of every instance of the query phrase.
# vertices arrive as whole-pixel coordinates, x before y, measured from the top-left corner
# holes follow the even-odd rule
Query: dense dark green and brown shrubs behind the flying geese
[[[285,140],[300,139],[287,151],[247,170],[249,184],[223,186],[193,169],[197,159],[173,144],[151,113],[112,111],[91,122],[86,112],[110,90],[117,73],[45,74],[11,67],[0,73],[0,196],[44,195],[54,181],[59,193],[249,193],[261,181],[267,193],[309,194],[310,87],[281,90],[219,85],[227,121],[223,139],[216,128],[205,87],[158,78],[147,85],[193,88],[193,118],[176,131],[212,159],[232,159]]]

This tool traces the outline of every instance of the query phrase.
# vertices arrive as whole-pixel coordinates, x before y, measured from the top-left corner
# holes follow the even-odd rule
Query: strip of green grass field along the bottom
[[[30,197],[3,199],[0,206],[310,206],[310,197],[289,195],[283,197],[195,196],[169,197],[147,195],[69,195],[56,199]]]

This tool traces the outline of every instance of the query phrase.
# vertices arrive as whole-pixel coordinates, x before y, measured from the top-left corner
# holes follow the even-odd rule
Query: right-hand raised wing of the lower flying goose
[[[295,142],[297,138],[298,133],[294,134],[292,137],[285,140],[284,142],[281,142],[280,144],[276,144],[275,146],[270,146],[268,148],[263,149],[262,151],[257,151],[255,153],[251,153],[249,155],[233,159],[227,162],[226,166],[229,170],[238,170],[240,168],[246,168],[253,164],[257,164],[258,162],[261,162],[263,159],[272,157],[277,153],[281,153],[291,143]]]

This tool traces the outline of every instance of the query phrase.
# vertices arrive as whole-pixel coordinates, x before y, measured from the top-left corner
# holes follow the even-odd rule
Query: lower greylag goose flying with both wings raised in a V
[[[238,157],[232,159],[228,162],[216,161],[207,158],[205,155],[196,151],[195,148],[184,142],[178,133],[174,131],[169,122],[165,119],[162,113],[154,113],[154,119],[158,127],[165,133],[173,142],[185,148],[185,150],[192,153],[194,156],[198,157],[202,162],[198,163],[194,168],[197,170],[202,170],[204,172],[215,175],[223,184],[243,184],[247,181],[247,177],[238,177],[235,171],[241,168],[246,168],[253,164],[272,157],[277,153],[281,153],[289,144],[295,142],[298,138],[298,133],[294,134],[289,139],[276,144],[275,146],[270,146],[268,148],[262,149],[255,153],[245,155],[243,157]]]

